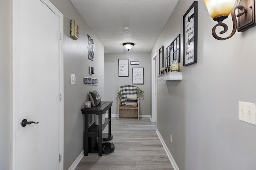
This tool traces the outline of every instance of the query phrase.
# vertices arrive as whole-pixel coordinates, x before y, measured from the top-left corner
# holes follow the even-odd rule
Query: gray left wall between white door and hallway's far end
[[[97,90],[104,100],[104,46],[94,35],[70,0],[51,0],[64,15],[64,170],[68,169],[84,145],[84,115],[80,109],[89,101],[88,92]],[[79,39],[70,37],[70,20],[79,24]],[[88,37],[94,41],[94,61],[88,59]],[[94,66],[93,76],[89,66]],[[71,84],[71,73],[76,84]],[[83,86],[83,77],[98,78],[98,86]]]

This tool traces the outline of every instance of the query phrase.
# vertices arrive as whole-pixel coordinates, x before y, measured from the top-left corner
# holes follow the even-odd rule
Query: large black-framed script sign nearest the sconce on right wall
[[[183,66],[197,63],[197,11],[194,1],[183,16]]]

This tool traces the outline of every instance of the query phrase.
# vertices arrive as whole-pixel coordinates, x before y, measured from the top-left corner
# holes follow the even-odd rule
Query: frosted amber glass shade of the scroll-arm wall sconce
[[[210,16],[214,19],[228,16],[233,10],[236,0],[204,0]]]

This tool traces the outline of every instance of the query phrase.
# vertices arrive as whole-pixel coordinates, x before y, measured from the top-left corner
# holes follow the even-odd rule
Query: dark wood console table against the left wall
[[[88,137],[99,138],[99,156],[102,156],[102,131],[108,124],[108,134],[111,134],[111,106],[113,102],[101,102],[98,106],[92,106],[90,109],[81,109],[84,114],[84,156],[88,156]],[[105,123],[102,125],[102,114],[108,111],[108,118],[105,118]],[[99,115],[99,125],[92,124],[88,127],[88,115]]]

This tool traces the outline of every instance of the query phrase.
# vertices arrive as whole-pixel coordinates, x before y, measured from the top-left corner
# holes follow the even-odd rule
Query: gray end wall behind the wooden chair
[[[132,50],[131,50],[132,51]],[[129,77],[119,77],[118,59],[129,59]],[[139,61],[139,65],[130,65],[130,61]],[[105,54],[105,98],[113,101],[112,114],[117,114],[118,88],[124,85],[132,85],[132,68],[144,67],[144,84],[134,84],[141,88],[145,94],[140,98],[140,115],[151,115],[151,77],[150,77],[150,53],[130,53],[126,54]]]

